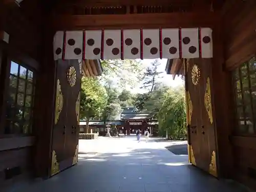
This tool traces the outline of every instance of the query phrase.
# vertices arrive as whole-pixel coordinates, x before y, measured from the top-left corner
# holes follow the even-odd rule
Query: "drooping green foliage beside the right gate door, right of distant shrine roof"
[[[137,94],[134,105],[140,110],[151,113],[159,122],[159,135],[169,139],[186,138],[186,114],[184,88],[158,86],[152,92]]]

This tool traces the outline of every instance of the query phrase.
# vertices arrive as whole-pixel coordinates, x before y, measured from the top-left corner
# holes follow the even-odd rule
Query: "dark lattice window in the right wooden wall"
[[[251,58],[233,73],[238,135],[256,135],[256,59]]]

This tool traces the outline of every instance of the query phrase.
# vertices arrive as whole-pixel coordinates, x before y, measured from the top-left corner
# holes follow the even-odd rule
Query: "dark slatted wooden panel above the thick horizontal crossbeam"
[[[57,0],[57,14],[97,15],[218,10],[224,0]]]

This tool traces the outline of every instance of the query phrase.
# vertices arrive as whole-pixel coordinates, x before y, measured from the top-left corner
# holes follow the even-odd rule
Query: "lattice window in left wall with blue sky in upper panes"
[[[32,134],[34,72],[11,62],[5,134]]]

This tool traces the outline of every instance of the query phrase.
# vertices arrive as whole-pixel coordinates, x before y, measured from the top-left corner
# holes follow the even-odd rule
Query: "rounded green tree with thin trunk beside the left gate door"
[[[89,120],[103,112],[107,104],[108,96],[106,90],[98,79],[82,77],[80,118],[86,118],[86,133],[88,133]]]

